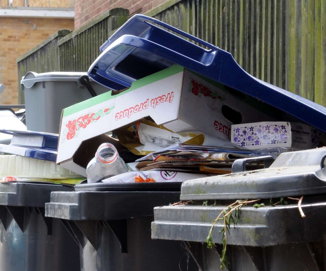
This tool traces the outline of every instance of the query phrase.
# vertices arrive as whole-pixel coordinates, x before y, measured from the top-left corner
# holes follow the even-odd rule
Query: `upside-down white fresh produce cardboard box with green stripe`
[[[102,143],[104,133],[146,116],[173,132],[200,131],[225,140],[230,140],[232,124],[274,120],[246,99],[181,66],[171,66],[133,82],[119,94],[109,91],[65,108],[57,163],[86,176],[88,161],[80,162],[81,148],[96,148],[94,141]],[[87,144],[90,139],[92,144]]]

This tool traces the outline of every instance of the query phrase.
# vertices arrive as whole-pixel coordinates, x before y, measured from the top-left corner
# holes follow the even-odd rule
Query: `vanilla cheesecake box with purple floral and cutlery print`
[[[312,127],[293,122],[255,122],[231,126],[231,142],[248,149],[292,147],[309,149],[319,142]]]

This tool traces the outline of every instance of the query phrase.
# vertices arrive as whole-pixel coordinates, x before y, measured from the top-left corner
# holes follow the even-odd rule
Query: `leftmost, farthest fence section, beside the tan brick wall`
[[[18,65],[18,102],[25,103],[24,91],[20,84],[27,72],[46,73],[59,71],[58,41],[69,34],[70,30],[59,30],[37,47],[29,50],[17,59]]]

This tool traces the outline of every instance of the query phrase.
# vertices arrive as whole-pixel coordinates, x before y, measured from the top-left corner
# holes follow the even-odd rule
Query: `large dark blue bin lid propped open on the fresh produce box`
[[[249,75],[229,52],[159,20],[133,16],[100,50],[87,74],[106,87],[130,87],[137,79],[178,64],[326,131],[325,107]]]

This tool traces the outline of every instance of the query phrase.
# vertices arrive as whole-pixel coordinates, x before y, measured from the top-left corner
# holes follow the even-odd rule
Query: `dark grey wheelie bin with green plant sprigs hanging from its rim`
[[[186,181],[182,200],[190,205],[154,209],[152,238],[182,240],[199,270],[220,270],[223,223],[215,224],[215,249],[206,237],[215,218],[238,199],[262,199],[265,207],[248,204],[227,234],[226,270],[326,270],[326,148],[282,153],[266,169],[242,171],[247,159],[236,161],[236,172]],[[304,196],[302,218],[296,201],[270,206],[280,197]],[[207,206],[203,202],[208,200]],[[215,206],[214,205],[215,201]]]

